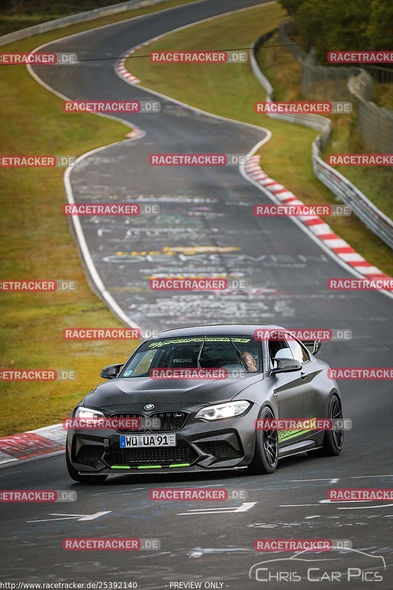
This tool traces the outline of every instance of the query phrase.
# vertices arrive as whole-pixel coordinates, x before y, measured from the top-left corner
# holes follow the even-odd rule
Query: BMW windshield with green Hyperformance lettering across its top
[[[148,340],[131,356],[119,377],[147,377],[156,368],[224,368],[262,372],[261,346],[250,336],[194,336]]]

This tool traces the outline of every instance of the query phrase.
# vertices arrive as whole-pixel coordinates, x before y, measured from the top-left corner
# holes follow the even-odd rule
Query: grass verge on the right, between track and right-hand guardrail
[[[272,30],[284,17],[285,12],[278,4],[258,6],[167,35],[152,43],[149,51],[250,47],[257,37]],[[269,41],[269,45],[273,44],[272,40]],[[146,51],[140,50],[134,55],[138,57],[144,53]],[[299,98],[298,86],[294,83],[299,76],[299,64],[295,60],[293,63],[290,61],[290,68],[283,70],[292,57],[279,48],[277,51],[272,48],[262,50],[260,59],[264,73],[278,91],[278,99]],[[253,75],[249,63],[177,64],[175,68],[172,64],[150,63],[148,58],[129,58],[127,67],[140,78],[143,86],[210,113],[266,127],[273,136],[260,149],[262,168],[308,204],[337,202],[332,193],[315,178],[312,170],[311,143],[315,139],[315,131],[254,112],[254,103],[265,100],[265,91]],[[342,124],[344,116],[336,116],[335,120]],[[335,151],[341,149],[335,146]],[[374,172],[380,174],[381,170]],[[351,173],[355,174],[356,169],[351,169]],[[365,189],[366,195],[372,199],[377,192],[377,188],[373,194]],[[328,218],[326,221],[333,231],[372,264],[388,274],[393,273],[391,250],[366,230],[354,215],[351,218]]]

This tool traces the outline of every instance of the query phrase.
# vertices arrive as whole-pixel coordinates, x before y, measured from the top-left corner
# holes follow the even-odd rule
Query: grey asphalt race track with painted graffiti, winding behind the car
[[[118,57],[163,32],[257,4],[206,0],[59,40],[45,51],[74,51],[80,59]],[[111,60],[86,61],[70,67],[35,67],[35,73],[74,100],[157,99],[125,83],[113,66]],[[148,164],[152,152],[247,153],[265,133],[159,100],[159,114],[121,116],[146,132],[143,139],[98,152],[71,173],[75,202],[146,195],[144,202],[160,205],[159,219],[146,217],[129,224],[121,217],[81,218],[98,273],[124,312],[146,329],[216,322],[351,329],[350,342],[324,343],[321,358],[332,366],[389,366],[392,300],[372,291],[329,291],[329,278],[351,275],[290,219],[255,218],[253,205],[270,201],[240,175],[237,166],[153,168]],[[181,250],[203,246],[212,251]],[[180,250],[171,250],[176,247]],[[223,252],[227,247],[235,249]],[[118,255],[119,251],[130,254]],[[131,255],[134,251],[160,254]],[[168,251],[173,253],[165,254]],[[156,273],[202,272],[208,276],[242,273],[247,289],[230,296],[157,294],[148,289],[147,277]],[[223,472],[218,477],[123,476],[110,478],[101,487],[88,487],[71,482],[63,455],[2,468],[2,489],[72,489],[77,490],[78,501],[2,506],[0,581],[127,581],[137,582],[144,590],[170,588],[171,582],[209,581],[219,583],[217,588],[258,588],[263,583],[249,579],[253,565],[292,555],[253,550],[255,539],[268,536],[351,540],[358,552],[311,554],[307,559],[321,572],[342,572],[348,567],[382,572],[383,581],[376,587],[391,588],[393,504],[325,501],[330,487],[391,487],[391,385],[389,381],[344,381],[341,392],[344,416],[354,425],[345,434],[342,454],[284,459],[271,476]],[[217,510],[214,502],[151,501],[149,490],[163,485],[230,487],[245,489],[248,496],[245,501],[220,502],[219,508],[227,510]],[[95,517],[80,520],[83,515]],[[161,548],[67,552],[62,549],[66,537],[154,538],[160,539]],[[377,556],[384,558],[386,570]],[[299,564],[298,571],[303,567]],[[321,583],[322,588],[368,588],[375,582]],[[269,583],[271,588],[283,585],[285,581]],[[295,584],[300,586],[312,588],[313,584]]]

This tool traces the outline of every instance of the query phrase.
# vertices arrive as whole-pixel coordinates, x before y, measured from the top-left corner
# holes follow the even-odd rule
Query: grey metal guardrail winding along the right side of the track
[[[257,80],[262,84],[266,90],[266,100],[271,102],[273,100],[273,87],[269,80],[263,75],[256,61],[255,53],[257,48],[261,47],[272,35],[276,32],[270,31],[262,37],[259,37],[250,50],[250,64]],[[312,165],[316,177],[327,186],[335,196],[349,205],[354,211],[354,214],[361,219],[361,221],[374,234],[378,235],[381,240],[385,242],[393,250],[393,221],[387,217],[382,211],[375,207],[371,201],[359,189],[349,182],[345,176],[337,172],[321,158],[321,151],[328,144],[331,132],[332,122],[326,117],[315,114],[288,114],[288,113],[268,113],[269,117],[296,123],[299,125],[306,125],[312,129],[320,130],[321,133],[316,137],[312,143]]]

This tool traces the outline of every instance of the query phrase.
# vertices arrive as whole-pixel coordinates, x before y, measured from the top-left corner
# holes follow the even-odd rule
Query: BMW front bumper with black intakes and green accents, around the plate
[[[176,434],[176,447],[120,448],[121,434],[114,430],[68,429],[71,463],[81,474],[173,473],[245,468],[255,450],[255,420],[259,407],[217,421],[189,419]],[[154,432],[154,434],[161,434]]]

